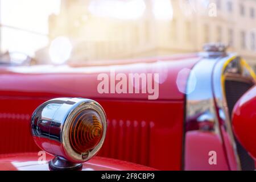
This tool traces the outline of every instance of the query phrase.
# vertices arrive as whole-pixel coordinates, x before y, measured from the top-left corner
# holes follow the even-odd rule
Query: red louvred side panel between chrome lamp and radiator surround
[[[109,120],[100,155],[157,169],[181,169],[183,102],[100,101],[100,104],[106,108]]]

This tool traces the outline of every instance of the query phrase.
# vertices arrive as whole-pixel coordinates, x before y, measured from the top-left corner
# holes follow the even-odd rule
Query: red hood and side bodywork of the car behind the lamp
[[[234,59],[237,56],[223,56],[221,59],[228,61],[231,57]],[[79,67],[53,65],[2,67],[0,68],[0,154],[39,151],[30,134],[30,118],[36,107],[56,97],[82,97],[100,103],[108,118],[105,143],[98,156],[162,170],[236,170],[237,163],[232,147],[228,147],[229,141],[222,143],[226,133],[224,128],[221,129],[221,124],[220,129],[223,130],[221,139],[212,131],[197,131],[199,127],[208,127],[210,122],[202,123],[200,126],[195,124],[195,131],[187,131],[188,125],[185,126],[188,121],[185,90],[189,80],[189,74],[186,73],[190,73],[186,71],[191,71],[205,60],[210,63],[215,61],[212,65],[217,67],[220,57],[207,58],[192,54],[113,61],[105,65]],[[100,73],[109,75],[112,70],[126,75],[160,72],[158,100],[148,100],[147,94],[98,93],[97,75]],[[213,69],[210,68],[205,74],[214,82],[212,72]],[[181,73],[185,74],[180,77]],[[217,104],[214,107],[217,107]],[[226,140],[229,140],[228,134],[226,135]],[[215,166],[208,163],[208,151],[211,150],[218,152],[218,164]],[[207,153],[204,153],[205,151]],[[229,156],[233,158],[229,159]],[[30,160],[29,155],[22,156],[19,160],[23,161],[26,158]],[[97,164],[98,159],[92,161]],[[10,160],[11,158],[1,159],[0,166],[3,161]],[[107,166],[110,165],[109,163]],[[123,168],[118,167],[118,169]]]

